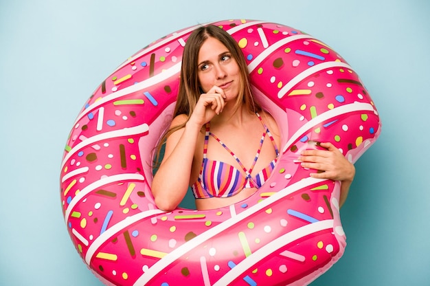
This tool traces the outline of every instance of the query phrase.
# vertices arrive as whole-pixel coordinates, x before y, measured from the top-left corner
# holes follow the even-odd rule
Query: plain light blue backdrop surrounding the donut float
[[[312,285],[430,285],[429,14],[427,0],[1,0],[0,285],[101,285],[60,208],[71,124],[128,56],[221,19],[282,23],[328,43],[381,115],[341,210],[346,253]]]

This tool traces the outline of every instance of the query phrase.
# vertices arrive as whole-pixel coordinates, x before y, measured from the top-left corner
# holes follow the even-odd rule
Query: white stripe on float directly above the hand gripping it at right
[[[284,148],[282,149],[282,153],[285,153],[285,151],[291,147],[291,144],[293,144],[295,141],[297,141],[300,137],[302,137],[306,132],[308,132],[313,127],[317,126],[317,124],[320,124],[326,120],[329,120],[330,118],[334,118],[338,115],[350,113],[353,111],[374,111],[374,107],[372,104],[365,103],[365,102],[354,102],[350,104],[345,104],[340,107],[336,107],[334,109],[330,109],[329,111],[326,111],[324,113],[321,113],[317,117],[309,120],[305,124],[303,124],[291,137],[288,139],[286,144],[284,145]]]

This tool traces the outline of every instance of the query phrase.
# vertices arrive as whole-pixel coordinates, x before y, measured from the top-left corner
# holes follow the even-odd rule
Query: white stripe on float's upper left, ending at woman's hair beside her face
[[[112,94],[109,94],[109,96],[104,96],[104,98],[100,98],[96,102],[93,102],[89,107],[84,109],[82,113],[78,115],[78,118],[76,118],[75,122],[73,123],[73,126],[78,123],[78,121],[99,107],[100,105],[106,104],[106,102],[109,102],[111,100],[115,100],[118,98],[122,98],[122,96],[127,96],[128,94],[133,94],[133,92],[147,89],[148,87],[152,85],[157,85],[159,83],[163,83],[167,78],[170,78],[170,76],[174,76],[175,74],[179,73],[181,70],[181,62],[177,63],[176,65],[173,65],[172,67],[166,69],[165,71],[161,72],[160,74],[156,74],[155,76],[152,76],[146,80],[141,81],[140,83],[136,83],[135,85],[131,85],[129,87],[126,87],[124,89],[120,89],[119,91],[115,91]]]

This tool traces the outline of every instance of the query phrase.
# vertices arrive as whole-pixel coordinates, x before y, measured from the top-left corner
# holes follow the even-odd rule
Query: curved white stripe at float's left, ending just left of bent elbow
[[[71,210],[76,206],[78,201],[83,199],[86,195],[88,195],[90,192],[95,190],[96,188],[100,188],[101,186],[111,184],[115,181],[145,181],[145,177],[140,174],[119,174],[119,175],[113,175],[110,177],[104,177],[103,179],[99,179],[98,181],[93,181],[93,183],[89,184],[85,188],[82,188],[78,194],[71,199],[69,206],[67,206],[66,212],[65,212],[65,221],[67,224],[67,221],[69,220],[69,215],[71,213]]]

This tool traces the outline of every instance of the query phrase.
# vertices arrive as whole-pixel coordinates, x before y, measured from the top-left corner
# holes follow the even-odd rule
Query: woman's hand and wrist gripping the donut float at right
[[[350,186],[355,176],[354,164],[330,142],[321,143],[321,147],[327,150],[306,150],[302,151],[299,161],[304,168],[321,170],[321,173],[311,173],[311,177],[319,179],[333,179],[341,181],[341,196],[339,206],[345,203],[348,197]]]

